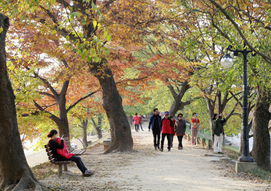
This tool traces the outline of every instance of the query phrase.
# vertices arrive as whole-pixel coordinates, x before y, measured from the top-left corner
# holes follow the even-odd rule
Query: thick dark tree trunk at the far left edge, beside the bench
[[[40,187],[32,173],[21,143],[14,93],[7,75],[5,36],[8,17],[0,14],[0,189],[22,191]],[[15,187],[15,188],[14,188]]]

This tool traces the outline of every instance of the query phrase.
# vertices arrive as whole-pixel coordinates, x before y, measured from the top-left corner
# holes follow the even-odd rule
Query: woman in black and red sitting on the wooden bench
[[[63,149],[64,148],[64,140],[63,138],[61,139],[61,144],[58,143],[57,138],[58,138],[58,133],[56,130],[51,130],[50,133],[47,135],[47,137],[51,137],[51,139],[49,140],[49,145],[50,148],[53,152],[53,157],[55,159],[57,159],[58,161],[74,161],[77,164],[77,167],[81,170],[81,172],[83,173],[84,176],[92,176],[94,174],[94,172],[88,170],[84,163],[82,162],[80,157],[74,156],[68,156],[68,158],[61,156],[58,152],[57,149]]]

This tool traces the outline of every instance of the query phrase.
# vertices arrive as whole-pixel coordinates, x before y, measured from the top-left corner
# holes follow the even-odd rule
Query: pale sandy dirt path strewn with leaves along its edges
[[[207,161],[204,154],[212,154],[199,146],[183,141],[183,150],[177,149],[174,138],[170,152],[153,150],[152,132],[135,132],[134,149],[137,152],[100,155],[102,145],[92,148],[82,159],[94,170],[93,177],[82,178],[77,167],[74,175],[56,174],[42,179],[45,184],[56,184],[69,191],[270,191],[265,183],[238,181],[225,177],[222,163]],[[56,169],[56,167],[55,167]]]

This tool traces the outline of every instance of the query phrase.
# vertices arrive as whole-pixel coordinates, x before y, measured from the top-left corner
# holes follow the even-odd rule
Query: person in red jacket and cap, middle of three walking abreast
[[[168,151],[170,151],[170,144],[171,144],[171,128],[172,128],[172,121],[169,119],[169,112],[166,111],[165,118],[163,118],[160,122],[160,126],[162,127],[162,139],[161,139],[161,149],[160,151],[164,151],[164,142],[165,137],[167,136],[168,139]]]

